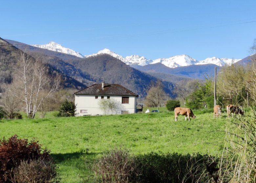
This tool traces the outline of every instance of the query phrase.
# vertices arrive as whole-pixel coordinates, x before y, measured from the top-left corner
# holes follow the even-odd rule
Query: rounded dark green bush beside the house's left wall
[[[75,104],[67,99],[61,104],[57,117],[75,116]]]

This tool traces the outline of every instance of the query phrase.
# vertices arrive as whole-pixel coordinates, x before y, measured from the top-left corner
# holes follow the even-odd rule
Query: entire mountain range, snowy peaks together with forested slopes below
[[[19,51],[25,51],[32,57],[39,55],[42,61],[47,64],[49,74],[58,73],[58,75],[61,75],[64,88],[81,89],[100,83],[103,73],[105,73],[106,83],[121,84],[141,97],[146,96],[150,82],[155,82],[157,79],[162,80],[165,92],[172,97],[172,90],[176,83],[181,80],[212,77],[214,68],[217,66],[215,64],[229,64],[232,60],[228,58],[209,58],[201,62],[187,55],[155,60],[146,59],[138,55],[124,58],[109,49],[101,50],[96,54],[82,56],[82,54],[64,48],[54,42],[51,42],[52,50],[50,48],[46,49],[48,48],[47,46],[40,48],[1,38],[0,42],[3,45],[11,44],[0,47],[0,86],[2,83],[10,83],[12,81],[12,65],[16,63]],[[235,64],[247,65],[250,60],[251,56],[240,61],[235,60]],[[200,62],[203,64],[199,64]]]

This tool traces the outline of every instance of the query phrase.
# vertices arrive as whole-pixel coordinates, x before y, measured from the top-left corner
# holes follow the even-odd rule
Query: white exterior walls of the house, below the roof
[[[95,99],[95,96],[98,96],[98,99]],[[104,99],[107,99],[107,96],[110,96],[110,99],[115,99],[118,102],[122,103],[122,96],[111,96],[111,95],[75,95],[75,105],[77,116],[84,115],[103,115],[104,112],[99,108],[99,101],[102,100],[101,96],[104,96]],[[129,104],[122,104],[124,107],[121,110],[127,110],[129,114],[136,112],[137,107],[137,96],[129,96]],[[81,113],[81,110],[82,113]],[[121,110],[119,113],[121,113]]]

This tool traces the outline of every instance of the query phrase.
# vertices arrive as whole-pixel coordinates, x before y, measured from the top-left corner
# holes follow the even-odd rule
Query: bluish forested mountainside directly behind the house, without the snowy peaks
[[[81,88],[99,83],[102,81],[104,73],[106,83],[121,84],[141,97],[145,97],[150,82],[157,81],[156,77],[138,71],[107,54],[90,58],[78,58],[64,53],[36,48],[20,42],[8,41],[33,57],[40,56],[42,61],[49,65],[51,70],[62,73],[65,80],[68,81],[66,86]],[[73,81],[70,80],[71,78]],[[83,86],[81,86],[80,82]],[[165,92],[172,96],[174,85],[164,81],[163,86]]]

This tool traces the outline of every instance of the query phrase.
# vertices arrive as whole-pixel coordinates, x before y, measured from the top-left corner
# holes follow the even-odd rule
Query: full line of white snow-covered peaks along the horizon
[[[189,57],[188,55],[177,55],[177,56],[172,56],[170,58],[158,58],[158,59],[154,59],[154,60],[147,59],[144,56],[139,56],[139,55],[131,55],[131,56],[127,56],[124,58],[121,55],[118,55],[117,53],[115,53],[109,49],[106,49],[106,48],[98,51],[95,54],[82,56],[81,53],[78,53],[70,48],[65,48],[55,42],[50,42],[48,44],[43,44],[43,45],[37,44],[37,45],[32,45],[32,46],[44,48],[44,49],[48,49],[48,50],[52,50],[52,51],[57,51],[57,52],[61,52],[61,53],[70,54],[70,55],[74,55],[74,56],[80,57],[80,58],[84,58],[84,57],[89,58],[89,57],[95,57],[100,54],[108,54],[108,55],[111,55],[112,57],[115,57],[115,58],[121,60],[126,65],[129,65],[132,67],[136,66],[136,65],[145,66],[148,64],[155,64],[155,63],[162,63],[163,65],[165,65],[169,68],[183,67],[183,66],[189,66],[189,65],[203,65],[203,64],[215,64],[218,66],[224,66],[225,64],[236,63],[237,61],[241,60],[241,59],[232,59],[232,58],[212,57],[212,58],[206,58],[204,60],[198,61],[195,58]]]

